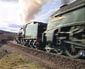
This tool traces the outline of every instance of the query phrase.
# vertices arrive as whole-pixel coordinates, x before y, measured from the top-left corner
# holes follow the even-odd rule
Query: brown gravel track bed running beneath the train
[[[63,55],[49,54],[41,50],[31,49],[25,46],[17,45],[14,42],[8,42],[9,48],[15,48],[23,51],[24,55],[32,60],[38,61],[39,64],[47,67],[48,69],[85,69],[85,60],[72,59]],[[14,50],[15,50],[14,49]],[[16,51],[20,53],[20,51]]]

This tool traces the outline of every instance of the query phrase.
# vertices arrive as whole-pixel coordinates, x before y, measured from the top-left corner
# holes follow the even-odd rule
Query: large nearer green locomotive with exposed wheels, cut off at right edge
[[[77,0],[56,11],[48,22],[46,51],[70,57],[85,53],[85,2]]]

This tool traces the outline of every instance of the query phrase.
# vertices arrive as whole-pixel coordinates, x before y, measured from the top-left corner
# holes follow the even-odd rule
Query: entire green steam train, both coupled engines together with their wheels
[[[48,24],[32,22],[21,29],[18,43],[72,58],[85,55],[85,2],[64,4],[49,19]],[[22,37],[21,39],[19,39]]]

